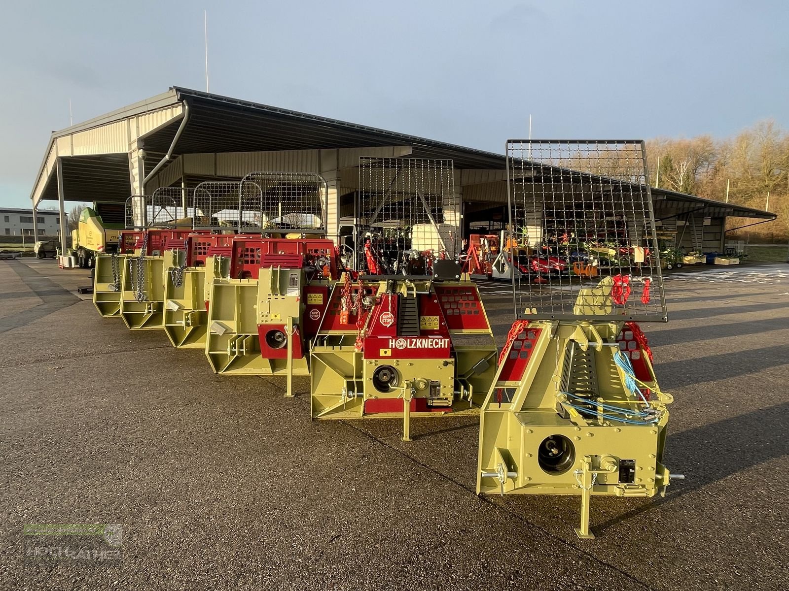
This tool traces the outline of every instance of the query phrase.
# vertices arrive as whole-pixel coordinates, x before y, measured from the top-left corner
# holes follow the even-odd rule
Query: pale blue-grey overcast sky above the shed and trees
[[[503,152],[789,126],[789,2],[0,0],[0,205],[54,129],[205,89]]]

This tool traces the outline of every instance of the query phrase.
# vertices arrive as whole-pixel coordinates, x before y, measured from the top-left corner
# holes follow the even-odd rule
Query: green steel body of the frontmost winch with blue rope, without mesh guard
[[[622,347],[627,333],[623,322],[536,321],[505,346],[481,412],[477,493],[579,495],[583,538],[594,537],[589,497],[665,494],[673,397],[641,345]],[[616,355],[643,363],[648,402]]]

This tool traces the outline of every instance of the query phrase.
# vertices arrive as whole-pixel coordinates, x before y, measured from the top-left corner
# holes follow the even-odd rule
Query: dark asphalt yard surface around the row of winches
[[[593,498],[581,541],[577,498],[475,495],[474,418],[312,422],[305,379],[216,376],[100,318],[84,271],[0,262],[0,588],[787,589],[789,266],[706,270],[643,327],[686,480]],[[26,563],[52,522],[122,524],[121,565]]]

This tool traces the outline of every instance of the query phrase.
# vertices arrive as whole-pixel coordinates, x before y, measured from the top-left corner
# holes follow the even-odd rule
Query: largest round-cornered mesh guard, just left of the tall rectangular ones
[[[241,180],[242,228],[323,234],[328,186],[317,173],[249,173]]]

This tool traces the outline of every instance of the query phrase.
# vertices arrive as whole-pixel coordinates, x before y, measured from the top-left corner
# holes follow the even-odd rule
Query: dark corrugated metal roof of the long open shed
[[[136,117],[141,113],[165,109],[178,102],[189,103],[191,112],[188,124],[178,141],[174,155],[211,154],[222,152],[260,152],[287,150],[317,150],[333,148],[365,148],[376,146],[411,146],[416,158],[451,158],[456,169],[503,170],[503,154],[462,147],[433,139],[410,136],[385,129],[372,128],[348,121],[339,121],[308,113],[286,110],[256,102],[232,99],[221,95],[172,87],[169,91],[114,110],[90,121],[54,132],[47,147],[58,137],[97,128],[116,121]],[[144,139],[145,169],[151,170],[170,148],[179,121],[156,129]],[[46,168],[47,156],[39,169],[39,177]],[[540,165],[535,165],[540,167]],[[572,176],[574,171],[567,171]],[[50,178],[42,191],[42,199],[57,199],[57,183]],[[496,173],[498,174],[498,173]],[[494,175],[495,176],[495,175]],[[63,158],[64,185],[67,199],[124,201],[129,195],[129,160],[127,154],[103,156],[80,155]],[[484,184],[484,180],[478,182]],[[497,183],[503,183],[498,180]],[[34,188],[35,191],[35,188]],[[469,190],[484,193],[485,201],[495,203],[496,197],[506,191],[492,191],[479,187]],[[720,203],[685,195],[665,189],[653,189],[656,208],[691,210],[704,207],[711,215],[737,215],[740,217],[776,217],[767,211],[755,210],[732,203]],[[33,196],[33,195],[32,195]],[[500,199],[500,197],[499,197]],[[662,202],[662,205],[660,205]]]

